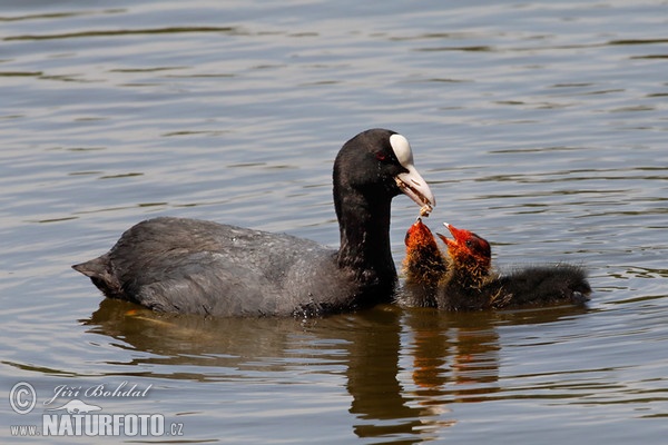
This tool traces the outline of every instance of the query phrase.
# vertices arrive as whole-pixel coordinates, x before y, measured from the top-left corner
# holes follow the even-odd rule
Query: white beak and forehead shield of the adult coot
[[[399,164],[409,170],[399,174],[394,178],[396,180],[396,186],[422,207],[420,210],[421,216],[429,216],[429,212],[436,205],[436,199],[426,185],[426,181],[422,178],[422,175],[420,175],[415,166],[413,166],[413,150],[411,150],[411,145],[407,139],[401,135],[392,135],[390,137],[390,145],[394,150]]]

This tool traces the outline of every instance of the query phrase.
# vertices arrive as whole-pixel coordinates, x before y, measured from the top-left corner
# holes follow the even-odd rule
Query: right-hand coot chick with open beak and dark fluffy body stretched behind
[[[531,266],[499,275],[491,270],[490,244],[472,231],[445,224],[453,239],[441,234],[451,258],[449,275],[436,295],[440,308],[484,309],[582,304],[591,287],[582,267],[558,264]]]

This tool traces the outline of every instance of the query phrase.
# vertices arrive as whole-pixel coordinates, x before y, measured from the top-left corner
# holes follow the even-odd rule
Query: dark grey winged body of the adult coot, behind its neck
[[[308,283],[327,260],[333,263],[331,250],[288,235],[156,218],[131,227],[108,254],[76,268],[108,296],[156,310],[291,315],[313,303],[313,289],[293,286],[295,277]]]

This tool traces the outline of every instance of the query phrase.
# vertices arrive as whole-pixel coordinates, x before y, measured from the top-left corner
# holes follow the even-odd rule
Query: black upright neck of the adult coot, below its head
[[[352,270],[362,286],[391,294],[396,284],[396,268],[390,248],[392,198],[373,194],[375,199],[369,199],[352,188],[341,191],[334,187],[341,233],[338,267]]]

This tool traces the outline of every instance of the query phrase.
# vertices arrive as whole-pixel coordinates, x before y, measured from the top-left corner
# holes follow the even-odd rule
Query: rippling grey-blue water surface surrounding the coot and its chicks
[[[71,443],[10,425],[124,382],[148,396],[82,399],[183,425],[160,441],[662,443],[667,8],[3,2],[0,387],[38,394],[0,403],[3,443]],[[411,140],[433,229],[484,236],[500,269],[582,264],[589,306],[202,319],[69,268],[159,215],[336,246],[333,158],[372,127]],[[416,210],[394,200],[397,264]]]

